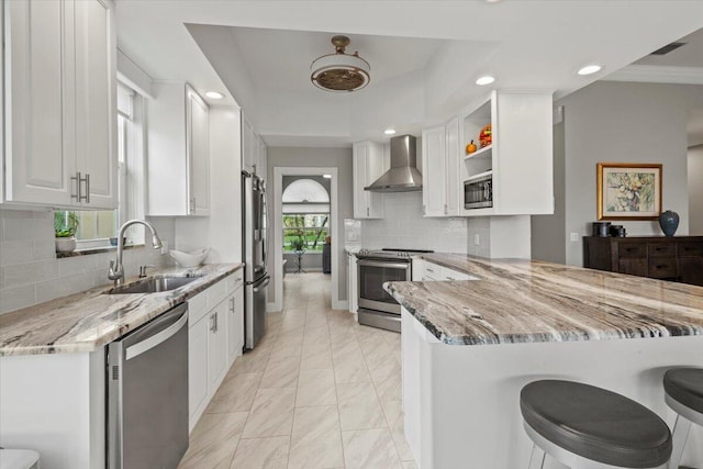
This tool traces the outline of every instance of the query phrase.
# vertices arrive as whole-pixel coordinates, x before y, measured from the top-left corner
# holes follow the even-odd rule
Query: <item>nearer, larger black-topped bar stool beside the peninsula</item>
[[[667,468],[671,433],[657,414],[589,384],[542,380],[520,393],[525,431],[534,443],[529,469],[545,453],[571,468]]]

